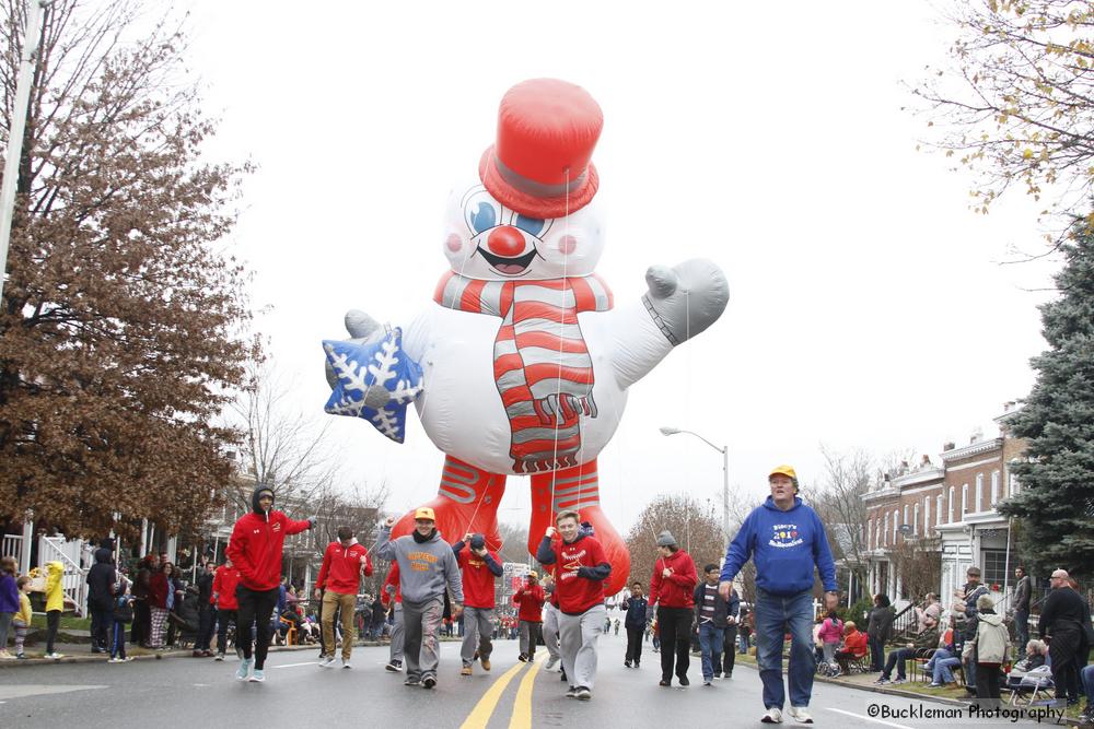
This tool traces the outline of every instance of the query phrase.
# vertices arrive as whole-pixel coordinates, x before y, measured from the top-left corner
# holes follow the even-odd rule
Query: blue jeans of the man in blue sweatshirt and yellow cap
[[[756,591],[756,662],[764,682],[764,706],[782,709],[785,692],[782,686],[782,643],[790,628],[790,705],[810,705],[813,693],[813,590],[790,597]]]

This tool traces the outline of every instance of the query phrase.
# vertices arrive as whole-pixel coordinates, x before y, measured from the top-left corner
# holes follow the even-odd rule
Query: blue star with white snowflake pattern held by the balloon
[[[364,343],[323,340],[338,376],[324,410],[363,418],[396,443],[406,436],[407,405],[422,391],[421,367],[403,350],[403,330]]]

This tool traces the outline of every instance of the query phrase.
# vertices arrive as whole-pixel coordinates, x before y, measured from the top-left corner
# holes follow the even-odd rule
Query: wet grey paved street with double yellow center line
[[[322,670],[313,650],[270,654],[265,684],[235,681],[234,657],[223,663],[177,657],[116,666],[4,668],[0,669],[0,727],[760,726],[760,682],[749,666],[738,666],[730,681],[705,687],[695,659],[689,689],[662,689],[659,656],[648,650],[640,670],[624,668],[625,638],[609,635],[601,640],[593,701],[582,703],[562,695],[566,687],[558,673],[542,670],[546,651],[537,654],[537,665],[527,666],[516,661],[516,642],[496,645],[493,671],[484,673],[476,667],[468,679],[458,675],[457,644],[443,644],[440,683],[433,691],[406,687],[401,674],[385,672],[386,648],[357,648],[352,670]],[[871,719],[866,716],[871,703],[954,708],[817,683],[813,715],[817,725],[840,729],[968,722],[966,718]],[[1005,720],[991,724],[1013,726]]]

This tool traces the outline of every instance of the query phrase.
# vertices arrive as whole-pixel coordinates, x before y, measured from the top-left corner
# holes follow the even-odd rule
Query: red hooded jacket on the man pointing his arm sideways
[[[240,517],[228,545],[228,557],[240,571],[240,584],[252,590],[272,590],[280,585],[284,538],[310,526],[307,519],[294,521],[282,512],[251,512]]]

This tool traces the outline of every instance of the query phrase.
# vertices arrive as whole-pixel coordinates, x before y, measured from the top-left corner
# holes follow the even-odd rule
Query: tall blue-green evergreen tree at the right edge
[[[1074,223],[1056,275],[1060,297],[1041,306],[1049,349],[1033,358],[1037,381],[1014,416],[1028,443],[1021,490],[1000,507],[1023,520],[1025,552],[1047,568],[1094,575],[1094,227]]]

